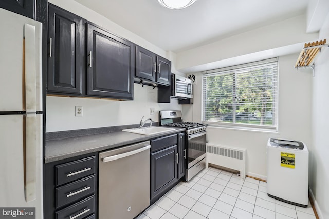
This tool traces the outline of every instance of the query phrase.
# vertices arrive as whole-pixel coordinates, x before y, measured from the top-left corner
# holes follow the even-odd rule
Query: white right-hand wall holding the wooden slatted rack
[[[329,14],[319,39],[329,42]],[[315,60],[312,95],[312,144],[310,150],[310,190],[320,219],[329,218],[329,48],[322,48]]]

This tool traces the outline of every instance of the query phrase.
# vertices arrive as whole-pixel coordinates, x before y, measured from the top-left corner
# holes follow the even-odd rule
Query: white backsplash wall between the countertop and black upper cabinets
[[[159,110],[181,110],[174,99],[157,103],[157,92],[157,88],[134,84],[133,101],[47,96],[46,132],[137,124],[142,116],[158,122]],[[75,106],[83,107],[82,117],[75,117]]]

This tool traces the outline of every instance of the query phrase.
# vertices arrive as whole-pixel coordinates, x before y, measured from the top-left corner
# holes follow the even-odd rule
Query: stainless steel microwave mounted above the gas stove
[[[171,98],[186,99],[193,98],[193,84],[188,78],[171,75]]]

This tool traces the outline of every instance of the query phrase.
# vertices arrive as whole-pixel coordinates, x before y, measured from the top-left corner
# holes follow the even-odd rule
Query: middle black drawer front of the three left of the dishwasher
[[[56,188],[56,208],[95,193],[95,175]]]

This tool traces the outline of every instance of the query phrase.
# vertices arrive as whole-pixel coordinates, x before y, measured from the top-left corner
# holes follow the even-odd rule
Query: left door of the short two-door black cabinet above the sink
[[[155,81],[156,55],[147,49],[136,47],[136,77]]]

